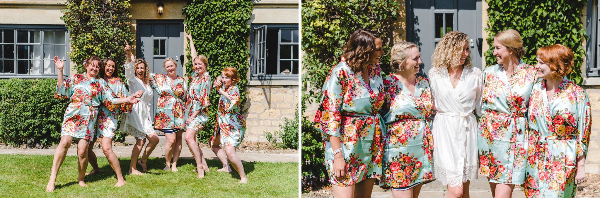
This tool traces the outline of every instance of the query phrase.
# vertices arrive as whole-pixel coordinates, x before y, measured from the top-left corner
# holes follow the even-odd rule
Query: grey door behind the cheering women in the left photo
[[[167,73],[163,61],[167,57],[177,62],[177,75],[184,76],[184,24],[172,20],[137,21],[137,57],[144,58],[152,73]],[[158,94],[154,93],[152,106],[156,107]],[[154,115],[151,108],[151,115]],[[154,118],[154,117],[153,117]]]

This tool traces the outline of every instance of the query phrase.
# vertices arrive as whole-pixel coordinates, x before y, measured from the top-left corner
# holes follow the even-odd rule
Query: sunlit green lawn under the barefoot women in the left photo
[[[67,156],[56,179],[56,190],[46,193],[53,156],[0,154],[2,197],[298,197],[298,163],[247,162],[248,184],[239,175],[217,172],[218,160],[208,160],[211,172],[196,178],[193,159],[179,159],[179,172],[163,171],[164,158],[148,160],[145,175],[127,174],[129,157],[119,157],[123,187],[113,187],[115,172],[106,157],[98,156],[100,174],[86,177],[88,187],[77,184],[77,157]],[[141,168],[139,168],[141,169]],[[88,171],[91,166],[88,166]]]

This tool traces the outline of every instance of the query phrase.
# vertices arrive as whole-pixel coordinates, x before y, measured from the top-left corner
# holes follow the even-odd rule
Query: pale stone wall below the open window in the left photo
[[[266,141],[265,132],[280,131],[284,118],[293,119],[298,108],[298,85],[248,86],[244,106],[244,140]]]

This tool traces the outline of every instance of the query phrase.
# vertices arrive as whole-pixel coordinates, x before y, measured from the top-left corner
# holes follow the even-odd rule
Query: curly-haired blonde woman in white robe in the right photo
[[[431,94],[436,106],[431,133],[436,179],[448,187],[446,197],[469,197],[477,178],[477,119],[483,84],[481,69],[471,64],[469,36],[446,33],[431,56]]]

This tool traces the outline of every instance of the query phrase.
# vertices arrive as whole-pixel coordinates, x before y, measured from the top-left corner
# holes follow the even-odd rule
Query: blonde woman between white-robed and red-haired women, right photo
[[[526,113],[538,74],[520,60],[525,48],[517,30],[499,32],[493,47],[498,64],[485,67],[482,74],[479,173],[488,177],[494,197],[510,197],[515,185],[525,182]]]

